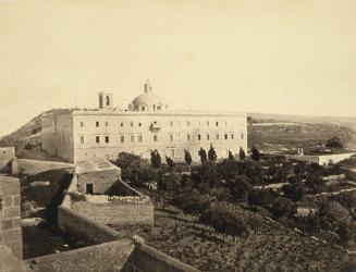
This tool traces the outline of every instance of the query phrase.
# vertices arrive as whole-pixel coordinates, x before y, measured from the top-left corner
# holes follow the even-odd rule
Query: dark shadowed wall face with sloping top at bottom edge
[[[145,244],[136,244],[122,272],[197,272],[185,264]]]

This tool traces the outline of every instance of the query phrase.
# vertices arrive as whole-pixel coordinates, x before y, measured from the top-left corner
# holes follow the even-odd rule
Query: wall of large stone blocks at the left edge
[[[0,243],[8,246],[19,258],[22,254],[20,182],[0,175]]]

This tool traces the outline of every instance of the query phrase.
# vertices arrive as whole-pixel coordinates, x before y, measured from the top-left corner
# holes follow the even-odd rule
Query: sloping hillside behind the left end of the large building
[[[15,132],[2,136],[0,147],[14,146],[19,158],[46,159],[46,153],[40,150],[41,116],[45,114],[60,115],[70,111],[70,109],[52,109],[42,112]]]

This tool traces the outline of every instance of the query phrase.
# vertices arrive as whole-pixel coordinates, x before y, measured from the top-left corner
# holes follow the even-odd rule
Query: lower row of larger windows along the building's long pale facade
[[[138,143],[142,143],[143,141],[143,135],[137,135],[137,138],[135,139],[135,135],[130,135],[128,139],[131,143],[135,143],[135,141],[138,141]],[[223,139],[228,140],[228,139],[234,139],[235,138],[235,134],[231,133],[231,134],[228,134],[225,133],[223,135]],[[128,140],[127,139],[127,140]],[[204,140],[202,139],[202,135],[201,134],[198,134],[198,140]],[[206,135],[206,140],[210,140],[212,139],[212,137],[210,137],[210,134],[207,134]],[[216,139],[219,140],[220,139],[220,134],[216,134]],[[244,134],[242,133],[241,134],[241,139],[244,139]],[[180,134],[176,134],[175,137],[173,134],[170,134],[170,141],[174,141],[174,140],[181,140],[181,135]],[[186,140],[191,140],[191,135],[187,134],[186,135]],[[157,134],[154,134],[154,141],[158,141],[158,135]],[[97,135],[95,136],[95,143],[97,144],[100,144],[100,136]],[[110,138],[108,135],[103,136],[103,143],[106,144],[109,144],[110,143]],[[124,135],[120,135],[120,143],[125,143],[125,136]],[[81,136],[81,144],[84,144],[84,136]]]

